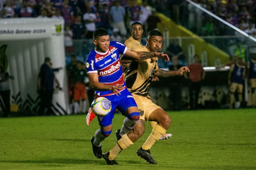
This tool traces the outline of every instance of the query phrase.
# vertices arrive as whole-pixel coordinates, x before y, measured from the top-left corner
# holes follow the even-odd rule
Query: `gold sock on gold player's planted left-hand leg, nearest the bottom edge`
[[[128,148],[132,144],[133,142],[129,139],[127,134],[123,135],[123,137],[120,140],[118,140],[117,144],[113,147],[113,149],[109,151],[108,159],[111,161],[114,160],[118,153]]]

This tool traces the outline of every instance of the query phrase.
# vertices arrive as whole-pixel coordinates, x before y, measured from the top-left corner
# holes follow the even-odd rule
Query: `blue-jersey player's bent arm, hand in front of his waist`
[[[120,94],[118,90],[123,90],[122,84],[116,84],[114,86],[112,85],[106,85],[99,82],[98,73],[88,73],[91,86],[94,90],[98,91],[113,91],[117,96]]]

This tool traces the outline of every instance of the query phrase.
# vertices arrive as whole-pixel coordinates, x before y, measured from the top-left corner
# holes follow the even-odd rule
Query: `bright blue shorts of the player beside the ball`
[[[122,115],[125,115],[125,112],[129,107],[137,107],[137,104],[133,99],[132,94],[128,91],[127,88],[120,93],[121,95],[119,94],[118,96],[105,96],[105,98],[107,98],[111,102],[111,111],[107,116],[103,118],[98,117],[99,125],[101,127],[107,127],[109,125],[112,125],[112,119],[114,118],[116,109],[118,109],[122,113]]]

